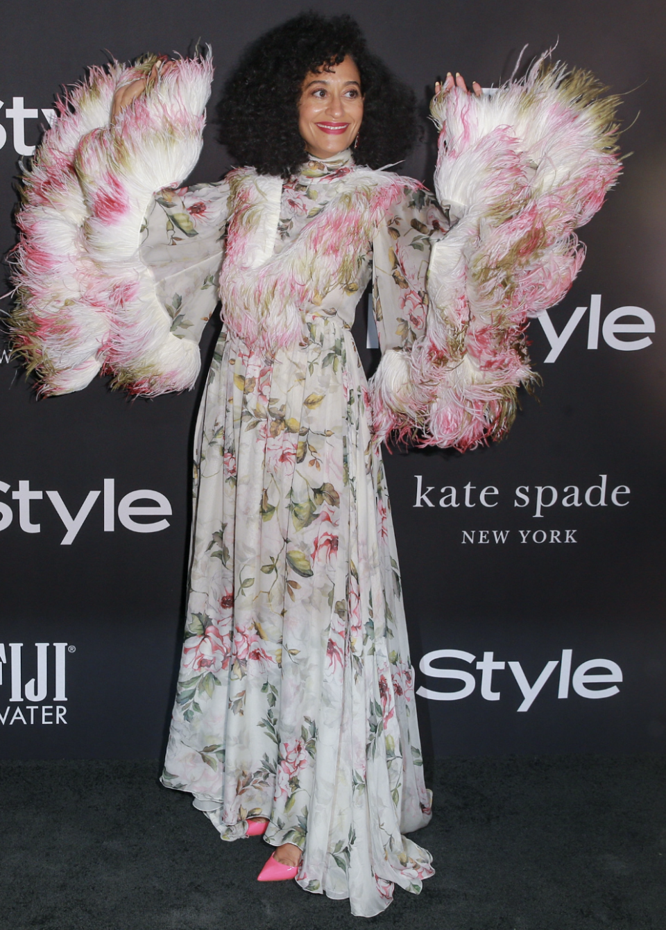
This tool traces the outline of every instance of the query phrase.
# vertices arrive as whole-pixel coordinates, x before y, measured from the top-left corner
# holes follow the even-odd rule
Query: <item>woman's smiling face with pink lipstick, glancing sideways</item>
[[[363,121],[361,75],[348,55],[328,70],[310,72],[299,100],[299,132],[315,158],[348,149]]]

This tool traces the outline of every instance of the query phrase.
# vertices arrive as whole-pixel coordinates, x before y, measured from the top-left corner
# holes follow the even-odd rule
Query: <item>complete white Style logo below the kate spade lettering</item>
[[[516,708],[518,713],[529,711],[544,684],[551,678],[558,666],[557,697],[560,699],[568,698],[571,690],[579,697],[592,699],[614,697],[619,694],[618,684],[622,681],[622,670],[617,662],[613,662],[609,658],[589,658],[585,662],[581,662],[572,671],[573,649],[563,649],[561,658],[553,658],[546,662],[543,670],[532,684],[527,680],[526,673],[523,671],[520,662],[496,660],[494,652],[485,652],[484,658],[476,659],[476,656],[471,652],[465,652],[463,649],[434,649],[433,652],[429,652],[421,658],[419,663],[420,671],[429,678],[460,682],[461,687],[455,690],[434,690],[433,688],[421,686],[417,691],[420,697],[427,697],[429,700],[461,700],[463,697],[470,697],[473,694],[479,676],[474,676],[471,671],[464,669],[441,669],[433,665],[433,662],[439,659],[451,658],[466,662],[468,665],[474,663],[473,667],[481,672],[480,691],[484,700],[500,700],[502,697],[500,687],[506,683],[506,667],[509,666],[513,680],[518,685],[523,696],[522,703]],[[505,675],[498,684],[498,678],[495,675],[501,671],[504,671]],[[598,685],[604,686],[599,687]],[[550,689],[550,693],[551,697],[553,697],[553,689]]]

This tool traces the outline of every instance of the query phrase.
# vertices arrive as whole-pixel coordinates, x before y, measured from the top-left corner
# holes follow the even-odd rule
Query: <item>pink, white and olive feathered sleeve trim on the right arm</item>
[[[584,258],[573,231],[619,176],[619,100],[604,89],[542,57],[492,95],[434,98],[435,190],[458,221],[433,241],[425,335],[375,376],[379,438],[464,450],[510,428],[518,386],[538,379],[528,317],[565,296]]]

